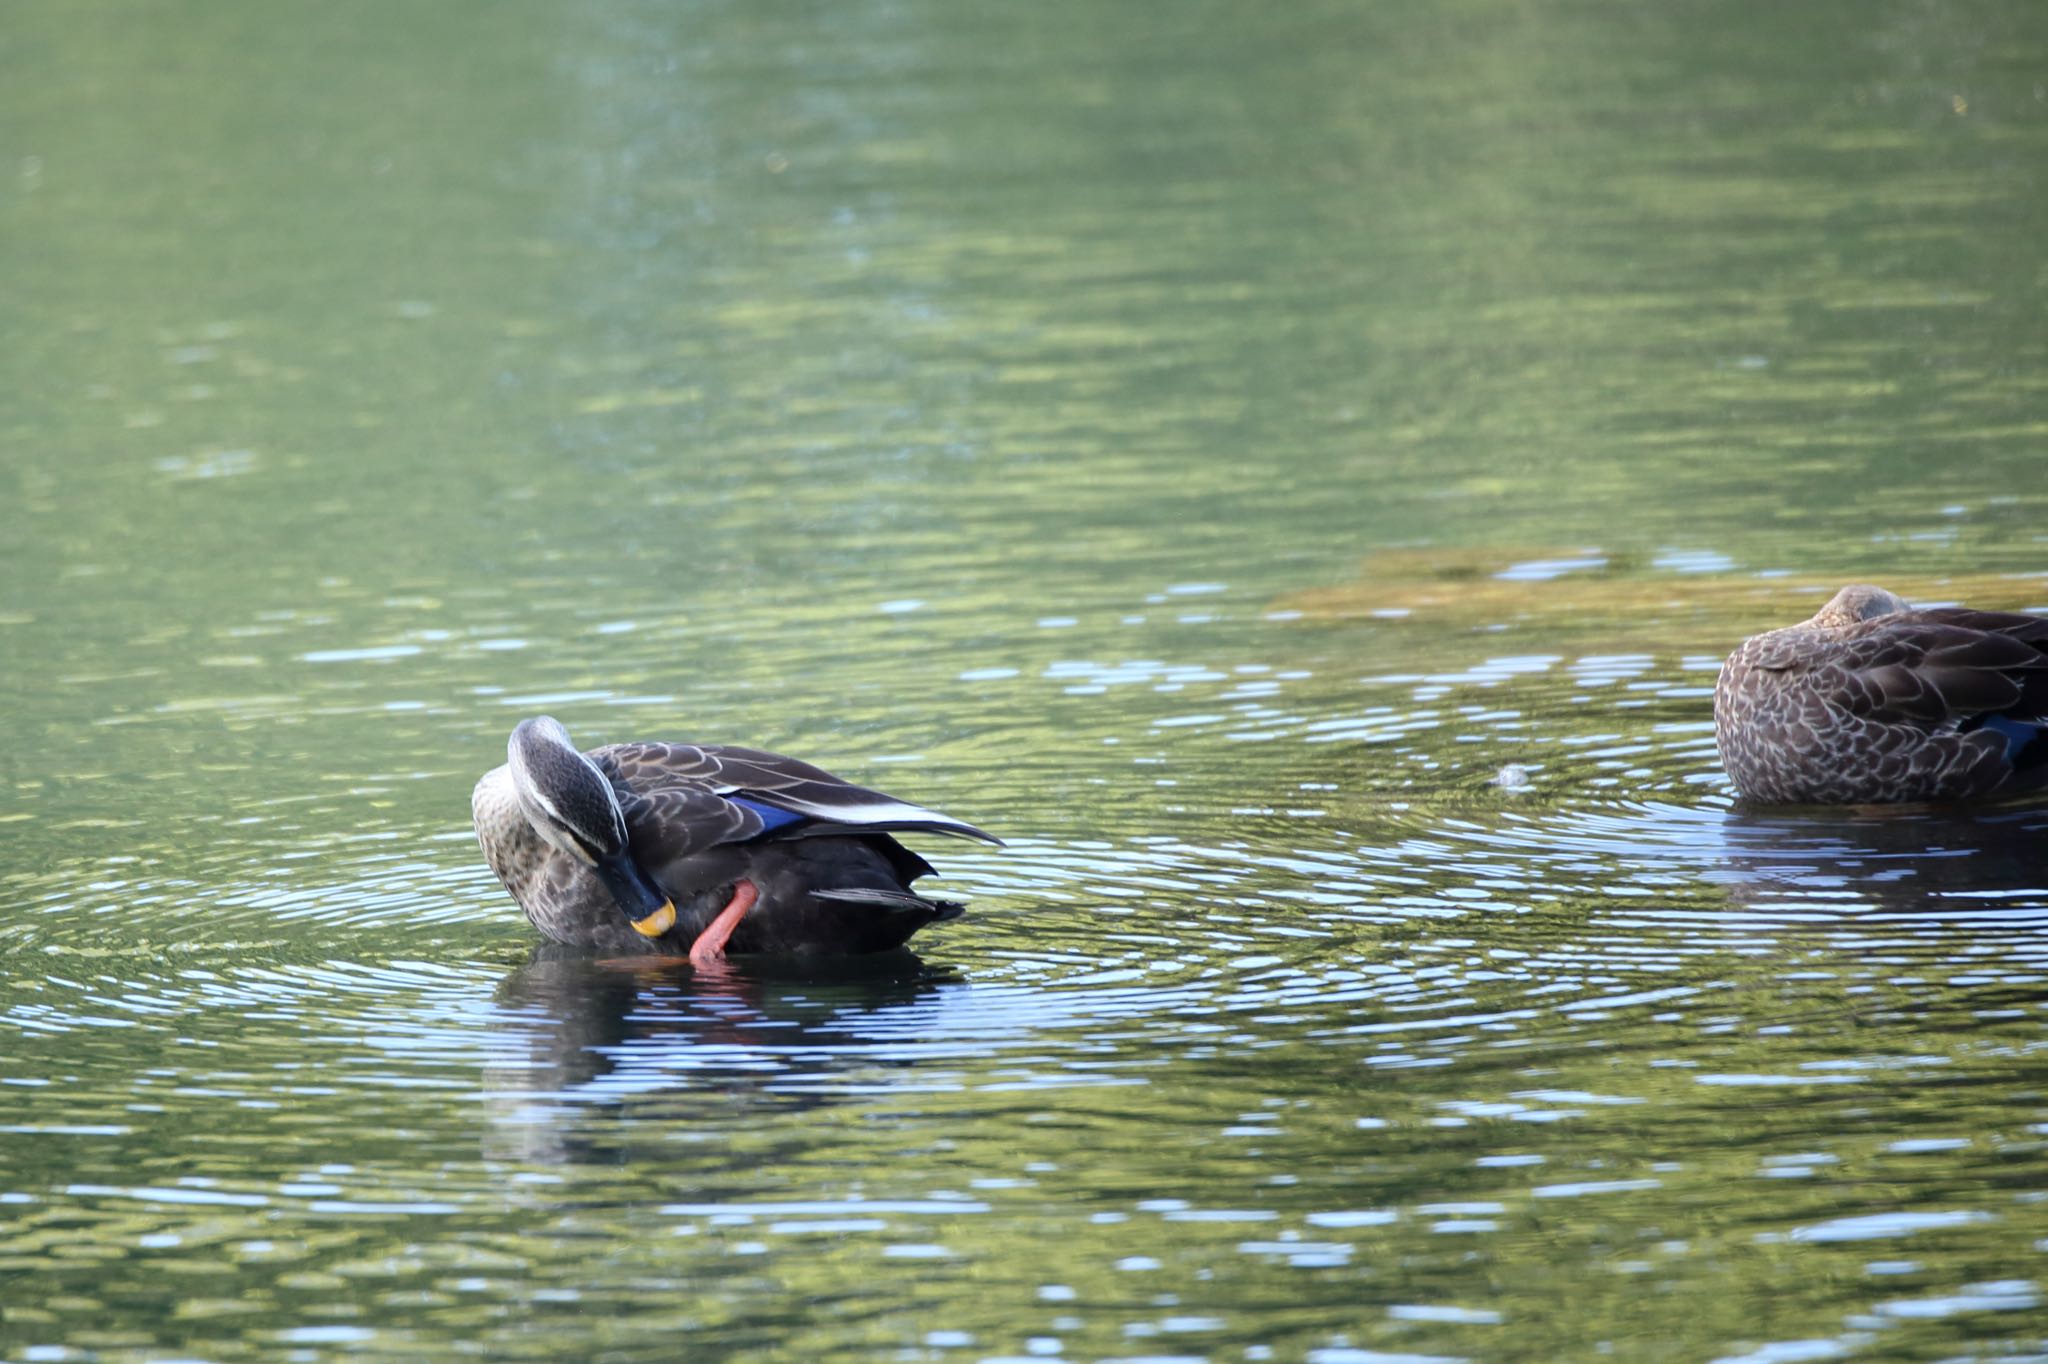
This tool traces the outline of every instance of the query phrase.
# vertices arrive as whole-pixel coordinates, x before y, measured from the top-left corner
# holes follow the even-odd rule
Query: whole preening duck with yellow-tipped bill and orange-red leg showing
[[[483,858],[555,942],[702,965],[727,952],[883,952],[961,905],[893,834],[1001,840],[795,758],[717,743],[578,752],[520,721],[469,797]]]

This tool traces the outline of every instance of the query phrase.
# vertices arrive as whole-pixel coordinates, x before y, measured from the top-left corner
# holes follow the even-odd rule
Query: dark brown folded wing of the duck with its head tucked
[[[1970,616],[2036,623],[2036,616],[1964,610],[1872,621],[1841,643],[1815,680],[1855,715],[1923,729],[2048,702],[2048,653],[2023,633],[1978,629]],[[2048,641],[2048,621],[2040,627]]]

